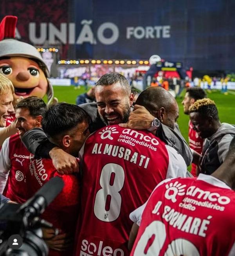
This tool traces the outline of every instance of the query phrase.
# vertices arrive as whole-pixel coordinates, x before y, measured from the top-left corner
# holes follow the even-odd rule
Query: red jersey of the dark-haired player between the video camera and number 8
[[[51,178],[59,176],[64,182],[63,190],[46,208],[42,218],[51,222],[54,227],[61,229],[62,233],[71,233],[74,236],[78,219],[78,203],[80,186],[75,175],[60,175],[51,159],[39,158],[31,159],[29,172],[26,177],[28,185],[28,195],[33,196]],[[54,251],[50,249],[49,256],[69,256],[72,249],[67,251]]]

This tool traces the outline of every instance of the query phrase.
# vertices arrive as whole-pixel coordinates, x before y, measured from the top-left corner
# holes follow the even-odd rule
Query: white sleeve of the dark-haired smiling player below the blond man
[[[9,158],[9,139],[7,138],[2,144],[0,151],[0,193],[5,189],[7,178],[11,169],[11,161]]]

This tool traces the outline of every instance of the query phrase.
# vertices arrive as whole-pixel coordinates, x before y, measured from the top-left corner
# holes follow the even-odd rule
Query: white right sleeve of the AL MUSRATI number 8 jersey
[[[169,156],[166,178],[186,177],[187,165],[183,157],[173,148],[166,145]]]

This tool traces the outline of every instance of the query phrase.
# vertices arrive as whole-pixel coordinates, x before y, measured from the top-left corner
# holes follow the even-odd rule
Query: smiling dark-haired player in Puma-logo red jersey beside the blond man
[[[21,136],[34,127],[41,127],[47,106],[42,99],[31,96],[19,102],[15,110],[18,133],[7,138],[0,151],[0,193],[4,191],[14,202],[24,203],[27,200],[25,171],[30,153],[21,142]]]

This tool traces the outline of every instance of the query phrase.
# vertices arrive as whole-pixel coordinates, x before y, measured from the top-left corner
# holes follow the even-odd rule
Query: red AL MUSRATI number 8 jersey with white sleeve
[[[165,178],[186,175],[186,164],[173,148],[150,132],[118,125],[91,134],[80,160],[83,185],[76,256],[129,255],[130,212]]]

